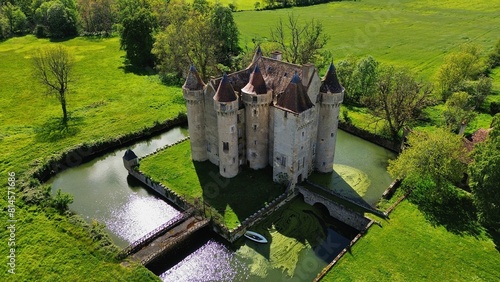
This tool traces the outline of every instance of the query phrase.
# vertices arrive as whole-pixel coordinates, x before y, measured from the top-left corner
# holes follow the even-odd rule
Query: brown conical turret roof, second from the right
[[[283,94],[278,97],[276,105],[294,113],[301,113],[312,108],[313,103],[307,96],[307,91],[297,73],[293,75]]]

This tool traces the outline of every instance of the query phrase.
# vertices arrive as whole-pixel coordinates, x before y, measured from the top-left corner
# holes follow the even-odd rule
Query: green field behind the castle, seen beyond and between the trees
[[[294,13],[302,21],[314,18],[323,24],[324,32],[330,36],[325,49],[333,53],[335,62],[349,55],[358,58],[371,55],[382,63],[409,67],[419,77],[433,83],[443,58],[457,51],[461,44],[479,45],[484,56],[491,52],[500,38],[498,6],[500,0],[341,1],[272,11],[245,11],[234,14],[234,18],[242,34],[242,47],[253,48],[254,38],[266,41],[277,19],[286,21],[287,15]],[[498,80],[498,70],[492,77]],[[494,82],[493,94],[498,91],[500,86]],[[492,97],[488,98],[486,109],[489,101],[499,99],[498,94]],[[349,107],[348,110],[353,124],[381,133],[383,124],[377,126],[366,109]],[[423,126],[442,124],[442,109],[429,111],[435,114],[431,113],[430,122]],[[468,126],[467,133],[488,127],[489,123],[491,116],[481,113],[476,122]]]

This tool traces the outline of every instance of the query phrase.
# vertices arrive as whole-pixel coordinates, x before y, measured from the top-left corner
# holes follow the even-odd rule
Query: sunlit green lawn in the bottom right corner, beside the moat
[[[434,227],[403,201],[322,281],[498,281],[499,265],[499,251],[487,234],[456,235]]]

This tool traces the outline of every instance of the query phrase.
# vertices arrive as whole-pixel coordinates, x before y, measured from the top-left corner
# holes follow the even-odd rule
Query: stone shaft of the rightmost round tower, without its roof
[[[340,104],[343,94],[321,93],[319,110],[318,138],[316,149],[316,170],[319,172],[332,172],[337,142],[337,130],[340,113]]]

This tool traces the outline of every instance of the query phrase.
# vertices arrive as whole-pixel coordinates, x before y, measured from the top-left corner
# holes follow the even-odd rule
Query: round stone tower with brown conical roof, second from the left
[[[238,96],[224,73],[214,96],[219,139],[219,172],[231,178],[238,174]]]

